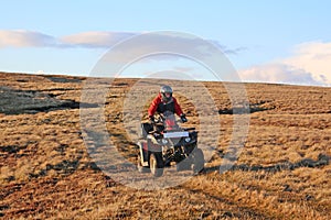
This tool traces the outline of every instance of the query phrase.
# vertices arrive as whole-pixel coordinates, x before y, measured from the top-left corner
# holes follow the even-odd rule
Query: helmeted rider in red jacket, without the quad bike
[[[172,97],[172,88],[170,86],[162,86],[160,89],[159,95],[153,99],[149,109],[148,109],[148,117],[151,122],[154,121],[154,113],[164,113],[164,112],[172,112],[177,113],[181,121],[188,122],[185,114],[183,113],[180,105],[178,103],[177,99]]]

